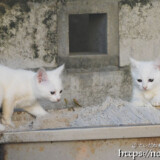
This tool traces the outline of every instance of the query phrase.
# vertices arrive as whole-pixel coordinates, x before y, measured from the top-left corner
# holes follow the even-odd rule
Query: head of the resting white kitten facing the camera
[[[143,62],[130,58],[133,83],[142,91],[160,85],[160,62]]]

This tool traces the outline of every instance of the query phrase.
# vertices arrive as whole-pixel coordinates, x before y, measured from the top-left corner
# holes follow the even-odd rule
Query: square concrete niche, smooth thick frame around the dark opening
[[[68,1],[58,12],[58,63],[67,68],[119,64],[118,1]]]

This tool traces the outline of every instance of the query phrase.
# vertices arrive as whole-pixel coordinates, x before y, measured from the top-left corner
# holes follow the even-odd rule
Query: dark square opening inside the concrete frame
[[[107,14],[70,14],[69,52],[71,55],[106,54]]]

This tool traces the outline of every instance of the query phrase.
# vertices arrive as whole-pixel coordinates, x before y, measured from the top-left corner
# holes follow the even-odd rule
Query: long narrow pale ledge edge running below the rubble
[[[48,129],[1,133],[0,143],[160,137],[159,133],[160,125]]]

